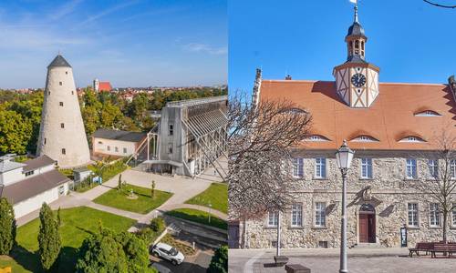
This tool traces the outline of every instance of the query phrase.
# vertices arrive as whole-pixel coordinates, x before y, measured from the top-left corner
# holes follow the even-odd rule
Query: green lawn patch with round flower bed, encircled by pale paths
[[[138,197],[136,199],[129,199],[130,188]],[[124,186],[121,190],[117,188],[109,190],[107,193],[97,197],[93,200],[95,203],[116,207],[123,210],[137,212],[140,214],[147,214],[152,209],[160,207],[161,204],[166,202],[172,196],[171,193],[161,190],[155,190],[155,197],[150,197],[150,188],[137,187],[130,184]]]

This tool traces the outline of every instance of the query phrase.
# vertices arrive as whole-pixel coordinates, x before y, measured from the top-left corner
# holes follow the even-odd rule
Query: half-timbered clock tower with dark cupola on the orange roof
[[[378,72],[380,69],[366,61],[365,44],[368,37],[358,22],[358,4],[355,5],[355,20],[345,37],[347,61],[334,67],[337,95],[354,108],[371,106],[378,96]]]

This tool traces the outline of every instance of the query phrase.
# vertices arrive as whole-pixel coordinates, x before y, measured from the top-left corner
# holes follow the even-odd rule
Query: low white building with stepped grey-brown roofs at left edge
[[[60,174],[56,166],[56,160],[47,156],[24,163],[15,162],[14,155],[0,157],[0,197],[13,204],[16,217],[67,195],[71,180]]]

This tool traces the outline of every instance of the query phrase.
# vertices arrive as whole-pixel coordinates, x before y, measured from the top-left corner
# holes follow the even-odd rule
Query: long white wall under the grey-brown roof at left
[[[65,193],[63,196],[67,195],[68,192],[68,183],[65,183],[61,186],[65,187]],[[60,186],[59,186],[60,187]],[[17,203],[13,206],[15,209],[15,216],[23,217],[26,214],[39,209],[44,202],[47,204],[52,203],[58,199],[58,187],[51,188],[35,197],[28,198],[20,203]]]

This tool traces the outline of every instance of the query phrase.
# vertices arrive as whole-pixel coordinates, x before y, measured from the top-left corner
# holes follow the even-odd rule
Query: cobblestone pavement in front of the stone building
[[[315,249],[316,250],[316,249]],[[288,264],[301,264],[312,270],[312,273],[338,272],[339,258],[333,252],[337,249],[330,249],[327,253],[319,251],[320,256],[299,255],[297,252],[284,253],[288,256]],[[388,256],[386,250],[376,251],[376,249],[363,249],[365,254],[357,249],[352,255],[348,255],[347,266],[350,273],[450,273],[456,272],[456,258],[409,258],[407,249],[391,249]],[[309,253],[312,250],[304,252]],[[402,252],[405,255],[398,256]],[[273,267],[275,252],[252,251],[252,250],[230,250],[229,268],[230,272],[285,272],[285,268]]]

